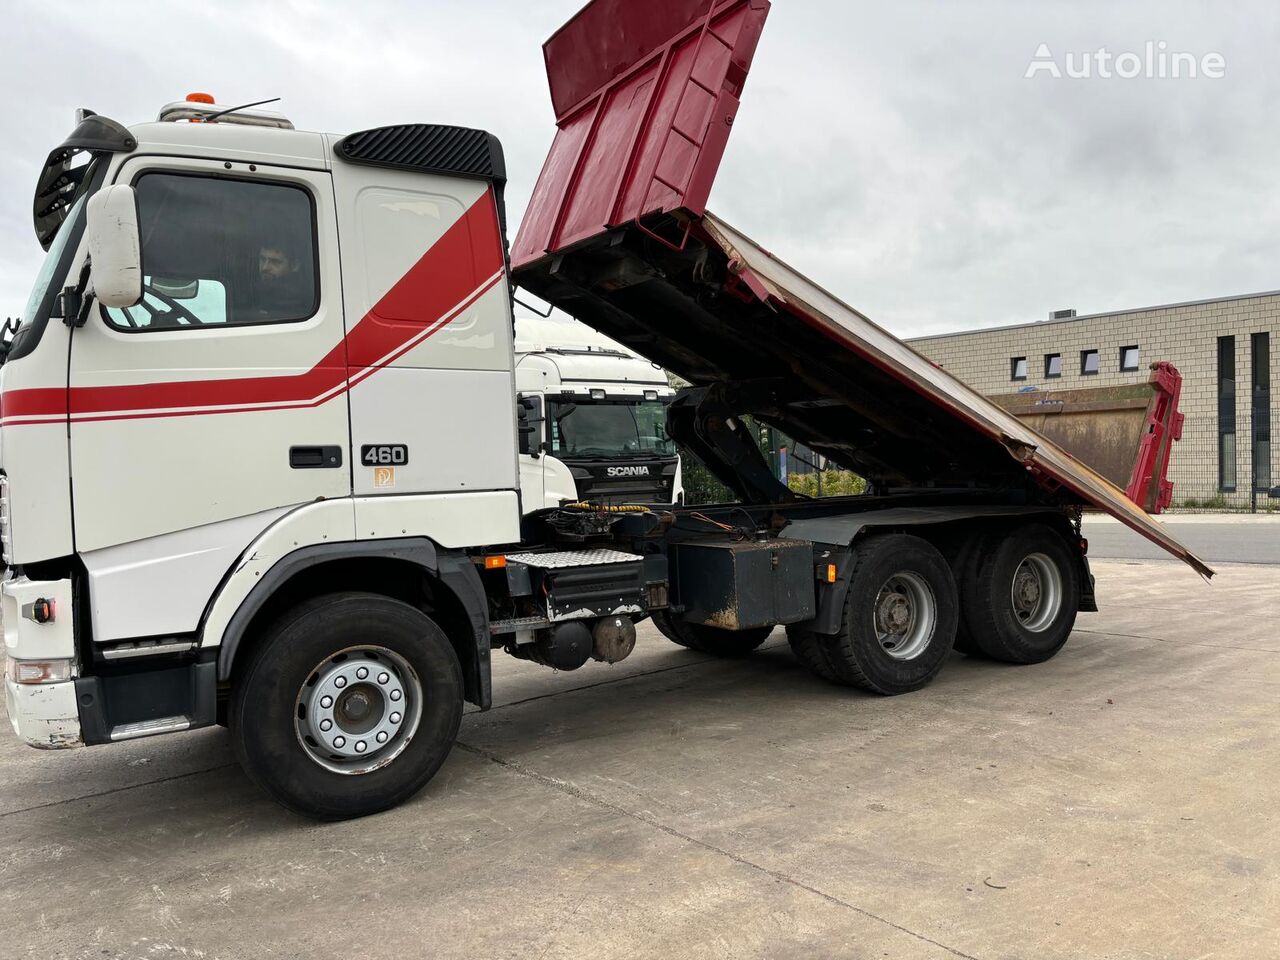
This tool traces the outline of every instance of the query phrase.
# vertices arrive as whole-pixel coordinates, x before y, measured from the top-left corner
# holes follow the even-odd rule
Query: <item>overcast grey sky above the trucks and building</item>
[[[198,90],[280,96],[301,129],[484,127],[515,225],[554,133],[540,45],[580,4],[4,0],[0,316],[77,106],[137,123]],[[1148,41],[1225,76],[1024,77],[1041,44],[1065,70]],[[1280,288],[1277,49],[1274,3],[774,0],[710,209],[900,335]]]

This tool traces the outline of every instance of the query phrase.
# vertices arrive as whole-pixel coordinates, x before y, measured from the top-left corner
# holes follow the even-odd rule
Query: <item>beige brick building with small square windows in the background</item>
[[[986,394],[1124,383],[1158,360],[1183,374],[1174,508],[1280,509],[1280,292],[965,330],[911,340]],[[1256,490],[1253,489],[1256,488]],[[1256,497],[1254,497],[1256,493]]]

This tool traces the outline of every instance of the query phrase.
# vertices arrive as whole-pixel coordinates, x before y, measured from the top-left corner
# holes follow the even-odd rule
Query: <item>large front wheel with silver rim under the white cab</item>
[[[288,809],[324,820],[407,800],[444,763],[462,669],[416,608],[340,593],[276,621],[234,684],[236,755]]]

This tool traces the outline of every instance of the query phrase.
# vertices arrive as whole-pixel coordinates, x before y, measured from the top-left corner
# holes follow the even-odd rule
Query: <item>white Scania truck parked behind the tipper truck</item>
[[[566,503],[684,502],[667,435],[675,394],[662,367],[584,324],[516,317],[525,512]]]

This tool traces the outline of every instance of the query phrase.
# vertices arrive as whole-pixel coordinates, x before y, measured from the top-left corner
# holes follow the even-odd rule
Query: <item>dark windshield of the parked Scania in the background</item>
[[[675,457],[662,401],[547,402],[550,453],[559,458]]]

